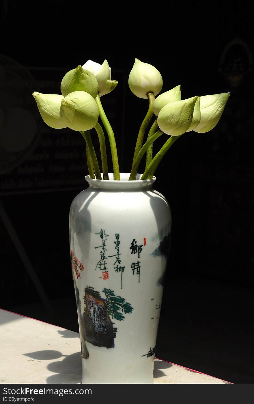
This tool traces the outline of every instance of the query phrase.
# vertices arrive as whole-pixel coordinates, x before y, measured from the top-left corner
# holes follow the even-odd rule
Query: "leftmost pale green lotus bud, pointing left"
[[[67,128],[68,122],[64,116],[60,116],[61,101],[64,98],[60,94],[41,94],[35,91],[33,94],[41,118],[51,128]]]

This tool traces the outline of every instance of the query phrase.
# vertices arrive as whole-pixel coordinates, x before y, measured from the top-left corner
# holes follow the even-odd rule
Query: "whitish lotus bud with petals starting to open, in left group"
[[[93,73],[96,77],[99,86],[99,96],[111,93],[116,88],[118,81],[111,80],[111,68],[106,60],[100,65],[99,63],[88,60],[83,66],[83,69]]]

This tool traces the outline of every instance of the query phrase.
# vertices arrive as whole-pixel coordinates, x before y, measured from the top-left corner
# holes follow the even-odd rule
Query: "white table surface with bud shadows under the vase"
[[[155,383],[228,383],[155,359]],[[0,383],[81,383],[79,334],[0,309]]]

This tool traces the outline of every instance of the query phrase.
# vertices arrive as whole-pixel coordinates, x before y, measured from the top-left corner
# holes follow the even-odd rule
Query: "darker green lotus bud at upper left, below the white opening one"
[[[61,92],[64,97],[74,91],[85,91],[93,98],[98,95],[99,86],[96,77],[83,69],[81,65],[66,73],[61,82]]]

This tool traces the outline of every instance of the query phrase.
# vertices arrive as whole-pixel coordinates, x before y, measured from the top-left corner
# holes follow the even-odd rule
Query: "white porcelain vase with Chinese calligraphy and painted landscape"
[[[120,176],[86,177],[70,207],[82,383],[153,383],[171,212],[155,178]]]

